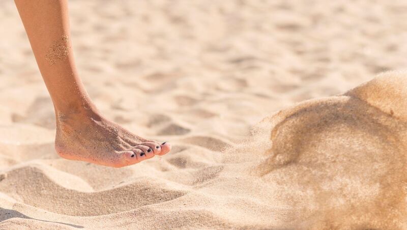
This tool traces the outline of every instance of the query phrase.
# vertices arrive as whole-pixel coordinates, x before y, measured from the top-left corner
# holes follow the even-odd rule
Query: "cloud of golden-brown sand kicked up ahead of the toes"
[[[407,214],[407,73],[381,74],[268,121],[272,147],[259,174],[314,191],[322,228],[400,227]]]

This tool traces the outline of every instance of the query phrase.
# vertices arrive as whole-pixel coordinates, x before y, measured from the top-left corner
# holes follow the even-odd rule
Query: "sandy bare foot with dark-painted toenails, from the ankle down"
[[[171,145],[141,138],[98,112],[85,110],[57,112],[55,149],[69,160],[123,167],[164,155]]]

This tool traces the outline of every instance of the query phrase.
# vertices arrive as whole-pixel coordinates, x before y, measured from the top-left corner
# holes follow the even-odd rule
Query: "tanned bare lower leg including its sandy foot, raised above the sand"
[[[159,145],[103,118],[76,71],[67,0],[15,0],[55,108],[55,147],[68,159],[125,166],[163,155]]]

